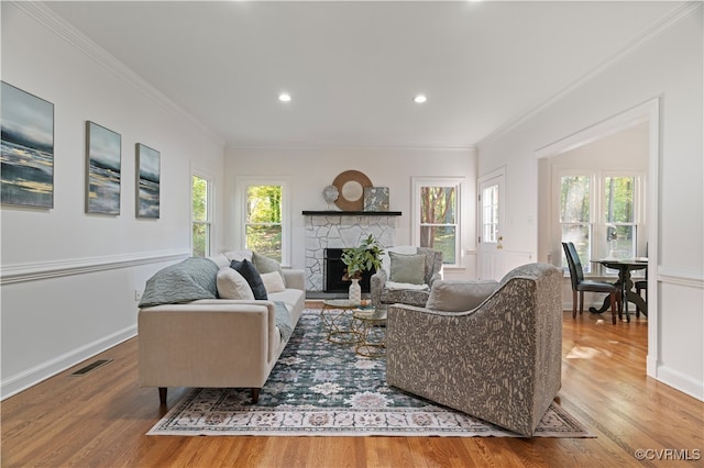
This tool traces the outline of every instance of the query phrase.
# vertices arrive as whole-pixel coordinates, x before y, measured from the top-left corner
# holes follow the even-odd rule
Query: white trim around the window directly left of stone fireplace
[[[282,266],[290,266],[290,180],[287,177],[235,177],[235,242],[238,248],[246,243],[246,189],[249,186],[280,186],[282,188]]]

